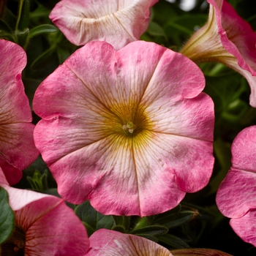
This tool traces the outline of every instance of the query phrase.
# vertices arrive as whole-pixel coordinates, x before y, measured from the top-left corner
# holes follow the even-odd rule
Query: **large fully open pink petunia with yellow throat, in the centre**
[[[34,139],[65,200],[159,214],[208,184],[214,105],[203,73],[152,42],[89,42],[34,96]]]

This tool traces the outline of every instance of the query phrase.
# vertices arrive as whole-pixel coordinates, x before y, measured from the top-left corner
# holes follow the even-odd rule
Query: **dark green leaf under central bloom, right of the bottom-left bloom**
[[[89,236],[100,228],[111,229],[114,225],[114,219],[111,215],[103,215],[96,211],[90,204],[89,200],[75,208],[75,214],[80,218],[86,227]]]

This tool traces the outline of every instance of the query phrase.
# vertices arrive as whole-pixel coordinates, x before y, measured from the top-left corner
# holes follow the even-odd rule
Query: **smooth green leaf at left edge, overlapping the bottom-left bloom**
[[[15,226],[15,215],[9,205],[7,191],[0,187],[0,244],[12,234]]]

